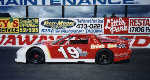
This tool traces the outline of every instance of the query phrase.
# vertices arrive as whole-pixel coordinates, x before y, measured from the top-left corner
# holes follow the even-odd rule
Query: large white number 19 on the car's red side
[[[64,50],[63,47],[60,47],[58,49],[58,51],[63,54],[64,58],[66,58],[66,59],[68,58],[68,55],[66,54],[66,51]],[[79,52],[77,51],[76,48],[74,48],[74,47],[68,47],[67,51],[71,55],[71,57],[73,57],[73,58],[79,58]]]

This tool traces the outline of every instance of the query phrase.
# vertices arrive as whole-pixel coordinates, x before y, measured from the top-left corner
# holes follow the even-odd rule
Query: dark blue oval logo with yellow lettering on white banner
[[[75,26],[76,22],[69,19],[47,19],[42,21],[41,25],[47,28],[64,29]]]

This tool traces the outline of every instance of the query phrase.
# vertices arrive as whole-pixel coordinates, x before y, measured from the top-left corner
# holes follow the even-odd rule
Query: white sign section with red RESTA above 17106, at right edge
[[[150,33],[150,18],[129,18],[129,33]]]

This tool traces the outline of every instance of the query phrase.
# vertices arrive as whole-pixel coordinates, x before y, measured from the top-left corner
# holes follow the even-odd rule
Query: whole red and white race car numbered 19
[[[17,51],[16,62],[92,62],[111,64],[128,61],[131,56],[129,41],[124,38],[94,34],[71,34],[57,41],[41,42]]]

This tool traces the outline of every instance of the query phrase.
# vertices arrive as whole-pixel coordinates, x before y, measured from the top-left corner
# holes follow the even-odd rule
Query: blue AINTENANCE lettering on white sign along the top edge
[[[139,2],[138,2],[139,3]],[[14,5],[134,5],[136,0],[0,0],[1,6]]]

